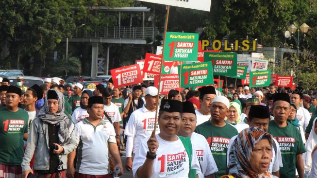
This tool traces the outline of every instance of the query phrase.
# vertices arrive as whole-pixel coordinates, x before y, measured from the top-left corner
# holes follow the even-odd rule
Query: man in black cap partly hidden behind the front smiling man
[[[205,137],[194,132],[196,122],[196,113],[193,104],[188,101],[183,102],[181,128],[177,135],[189,137],[192,144],[195,145],[195,151],[201,169],[201,173],[198,175],[199,178],[214,178],[214,173],[218,171],[217,164],[211,154],[209,144]]]

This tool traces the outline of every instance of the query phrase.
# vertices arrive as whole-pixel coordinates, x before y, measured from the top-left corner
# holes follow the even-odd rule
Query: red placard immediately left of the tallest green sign
[[[162,56],[146,53],[143,71],[159,75],[161,72]]]

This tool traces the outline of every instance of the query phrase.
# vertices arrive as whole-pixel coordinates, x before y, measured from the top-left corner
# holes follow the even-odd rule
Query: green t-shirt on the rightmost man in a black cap
[[[270,121],[268,133],[272,134],[280,145],[283,161],[283,167],[280,168],[280,178],[294,178],[296,155],[306,152],[300,136],[300,130],[291,124],[287,124],[286,127],[280,127],[274,121]]]

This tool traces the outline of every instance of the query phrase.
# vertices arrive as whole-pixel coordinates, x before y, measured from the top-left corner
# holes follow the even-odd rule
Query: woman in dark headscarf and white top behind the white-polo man
[[[82,98],[80,101],[80,107],[77,107],[71,115],[71,120],[74,124],[81,122],[85,117],[89,116],[87,112],[88,99],[93,95],[93,92],[89,89],[83,91]]]

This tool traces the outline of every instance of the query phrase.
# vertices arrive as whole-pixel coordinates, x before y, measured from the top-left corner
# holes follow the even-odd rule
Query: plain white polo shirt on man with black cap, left
[[[96,129],[87,120],[75,125],[76,140],[83,144],[78,145],[76,172],[89,175],[108,174],[109,153],[108,143],[116,142],[114,126],[108,120],[101,120]]]

